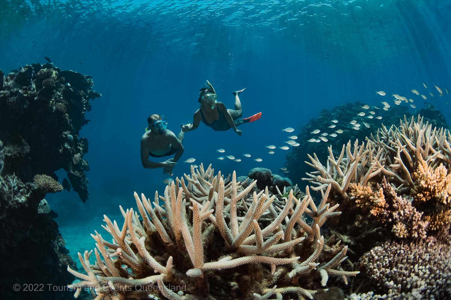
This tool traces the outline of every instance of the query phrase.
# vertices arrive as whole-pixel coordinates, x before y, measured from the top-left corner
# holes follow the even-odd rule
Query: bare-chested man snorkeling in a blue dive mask
[[[184,132],[178,136],[166,129],[167,118],[165,116],[150,115],[147,118],[146,133],[141,137],[141,163],[146,169],[163,168],[163,174],[172,176],[172,169],[182,156]],[[151,157],[166,157],[175,154],[163,162],[149,161]]]

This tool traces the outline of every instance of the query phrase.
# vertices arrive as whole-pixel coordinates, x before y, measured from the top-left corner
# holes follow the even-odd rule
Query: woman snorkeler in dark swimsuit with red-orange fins
[[[208,127],[211,127],[215,131],[226,131],[230,128],[241,135],[241,130],[238,130],[236,126],[244,123],[253,122],[260,119],[262,113],[259,112],[248,118],[239,119],[242,116],[241,102],[238,95],[243,90],[235,91],[232,94],[235,95],[235,110],[227,109],[226,105],[222,102],[217,102],[217,95],[215,89],[210,82],[207,81],[207,87],[203,87],[199,91],[200,102],[199,109],[194,113],[193,123],[181,125],[183,132],[188,132],[198,128],[200,121],[202,121]]]

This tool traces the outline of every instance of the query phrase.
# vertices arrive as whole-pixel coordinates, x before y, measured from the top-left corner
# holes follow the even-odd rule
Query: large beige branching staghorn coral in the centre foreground
[[[243,188],[235,172],[229,181],[213,171],[211,165],[191,166],[191,175],[177,178],[163,196],[155,193],[153,206],[135,193],[139,214],[120,207],[121,228],[105,215],[103,228],[113,242],[96,232],[96,264],[89,262],[92,251],[85,251],[78,255],[86,274],[68,267],[82,279],[69,286],[75,296],[89,287],[95,299],[314,299],[328,292],[323,287],[329,276],[347,284],[359,273],[340,266],[347,246],[322,251],[320,228],[340,214],[338,205],[327,203],[330,186],[317,206],[308,187],[303,199],[293,190],[278,199],[267,188],[250,194],[255,180]],[[274,206],[276,200],[284,206]]]

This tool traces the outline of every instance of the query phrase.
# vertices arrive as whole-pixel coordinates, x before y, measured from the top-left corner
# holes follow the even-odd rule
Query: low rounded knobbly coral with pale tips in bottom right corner
[[[366,253],[361,268],[374,287],[387,294],[383,299],[450,299],[450,259],[449,241],[434,237],[404,245],[389,241]]]

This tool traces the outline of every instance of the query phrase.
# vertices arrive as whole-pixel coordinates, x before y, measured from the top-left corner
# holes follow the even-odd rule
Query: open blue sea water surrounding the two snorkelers
[[[163,191],[168,176],[143,169],[139,157],[147,116],[166,115],[168,129],[178,133],[192,121],[206,80],[228,108],[232,91],[246,87],[243,116],[262,112],[262,118],[240,126],[242,136],[201,123],[185,134],[174,178],[189,172],[183,163],[189,157],[223,174],[247,175],[256,166],[276,172],[287,152],[270,155],[265,146],[285,145],[324,108],[374,105],[381,101],[375,91],[407,94],[422,82],[429,91],[433,83],[451,87],[451,1],[12,2],[23,6],[0,4],[1,69],[46,63],[47,56],[63,70],[92,76],[102,93],[80,131],[89,140],[90,199],[83,204],[65,191],[46,197],[62,228],[95,220],[84,235],[100,228],[103,213],[134,206],[134,191],[149,197]],[[31,3],[42,4],[32,5],[34,15],[23,12]],[[430,101],[448,122],[450,99]],[[217,160],[219,148],[242,161]]]

